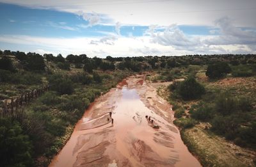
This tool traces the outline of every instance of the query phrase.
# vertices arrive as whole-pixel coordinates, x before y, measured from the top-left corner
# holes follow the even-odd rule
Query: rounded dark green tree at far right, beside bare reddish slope
[[[205,75],[210,79],[218,79],[224,77],[229,72],[231,72],[231,68],[228,63],[220,62],[208,65]]]

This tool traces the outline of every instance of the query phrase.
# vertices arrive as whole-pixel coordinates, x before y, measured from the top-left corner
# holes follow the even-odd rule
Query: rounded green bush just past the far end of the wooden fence
[[[61,75],[50,76],[49,85],[51,90],[57,91],[60,95],[71,94],[74,91],[72,81]]]

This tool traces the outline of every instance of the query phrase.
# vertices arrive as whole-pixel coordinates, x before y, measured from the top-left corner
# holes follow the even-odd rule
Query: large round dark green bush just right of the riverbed
[[[193,100],[200,98],[205,93],[205,88],[195,78],[189,77],[180,83],[178,92],[182,99]]]

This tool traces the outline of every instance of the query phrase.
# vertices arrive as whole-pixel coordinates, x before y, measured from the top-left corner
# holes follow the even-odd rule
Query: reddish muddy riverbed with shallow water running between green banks
[[[200,166],[172,121],[156,88],[129,77],[90,106],[50,166]]]

